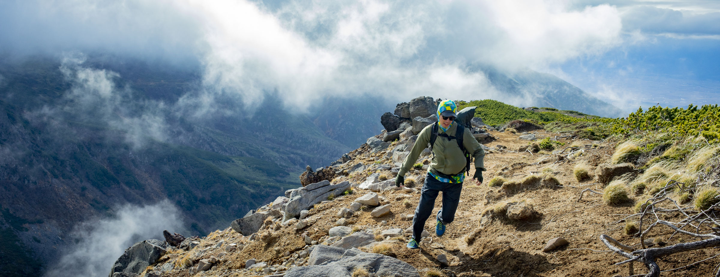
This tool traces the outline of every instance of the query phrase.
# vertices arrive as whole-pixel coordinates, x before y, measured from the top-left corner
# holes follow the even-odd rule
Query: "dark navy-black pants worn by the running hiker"
[[[460,201],[462,183],[444,183],[428,173],[425,183],[423,183],[422,194],[420,194],[420,204],[415,209],[415,217],[413,217],[413,239],[417,242],[420,242],[422,238],[425,222],[433,214],[435,199],[440,191],[443,192],[443,206],[438,211],[436,218],[444,224],[449,224],[455,220],[455,211]]]

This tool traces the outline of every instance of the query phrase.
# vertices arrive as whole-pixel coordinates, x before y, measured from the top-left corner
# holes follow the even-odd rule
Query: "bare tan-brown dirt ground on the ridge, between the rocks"
[[[534,131],[539,137],[554,137],[559,134],[547,133],[544,130]],[[568,145],[593,145],[585,153],[572,160],[557,161],[557,156],[551,153],[516,153],[521,146],[528,145],[527,140],[519,140],[519,134],[510,132],[491,132],[496,140],[485,143],[488,147],[497,148],[504,145],[507,150],[492,150],[485,155],[485,183],[475,186],[471,178],[464,183],[461,200],[456,213],[455,222],[449,224],[443,237],[434,234],[435,221],[428,220],[426,230],[431,236],[420,242],[420,249],[405,248],[405,242],[410,235],[384,240],[390,245],[386,255],[404,260],[421,272],[428,268],[441,270],[448,276],[629,276],[629,265],[613,265],[624,260],[620,255],[608,251],[598,239],[606,234],[616,238],[621,243],[640,248],[639,238],[626,235],[625,223],[621,221],[632,212],[634,201],[642,201],[640,196],[631,196],[631,201],[620,206],[603,204],[598,194],[585,194],[580,198],[583,189],[602,191],[603,186],[597,183],[591,173],[591,178],[578,182],[572,174],[577,163],[587,163],[594,168],[599,163],[606,163],[613,153],[611,143],[592,142],[589,140],[572,141],[560,140]],[[508,151],[509,150],[509,151]],[[374,158],[366,157],[367,162]],[[543,163],[539,161],[544,160]],[[390,176],[390,171],[384,171]],[[512,194],[500,187],[488,187],[490,179],[502,173],[508,176],[509,181],[521,180],[526,176],[550,175],[557,178],[559,186],[530,186],[515,191]],[[425,174],[425,171],[408,173],[408,178]],[[470,172],[470,176],[474,171]],[[392,178],[392,177],[390,177]],[[364,176],[355,176],[353,183],[359,183]],[[419,188],[417,188],[419,189]],[[310,225],[300,232],[295,232],[292,226],[281,227],[278,223],[267,222],[266,227],[271,229],[258,232],[259,240],[248,241],[237,232],[228,230],[217,232],[222,235],[211,234],[212,237],[202,242],[198,249],[217,243],[223,239],[226,242],[246,241],[242,251],[225,255],[227,262],[221,263],[217,269],[233,270],[243,268],[246,260],[256,258],[258,262],[264,261],[268,265],[282,263],[285,251],[296,253],[305,247],[302,234],[305,233],[313,240],[319,240],[328,235],[328,230],[335,227],[336,214],[339,209],[349,206],[357,197],[369,191],[356,190],[354,194],[341,196],[333,201],[316,204],[310,209],[308,221]],[[403,191],[382,191],[379,194],[392,203],[390,214],[384,217],[372,217],[370,210],[356,212],[348,219],[348,226],[354,230],[366,230],[379,233],[390,228],[406,229],[410,227],[410,220],[401,219],[401,214],[413,214],[420,198],[419,193]],[[441,206],[441,196],[438,196],[436,208]],[[409,203],[405,203],[408,201]],[[523,202],[533,206],[539,216],[527,220],[512,220],[508,217],[492,217],[488,209],[510,202]],[[672,217],[664,219],[672,220]],[[381,226],[382,221],[387,225]],[[482,227],[480,223],[482,222]],[[291,224],[294,225],[294,224]],[[267,234],[272,234],[268,236]],[[670,239],[672,232],[669,228],[658,227],[650,232],[646,238],[660,239],[672,245],[678,242],[696,240],[685,235],[675,235]],[[569,245],[543,252],[548,240],[555,237],[564,237]],[[471,242],[468,244],[468,242]],[[372,249],[364,249],[372,251]],[[221,250],[215,250],[218,252]],[[280,253],[280,254],[278,254]],[[658,260],[662,270],[680,268],[690,265],[712,255],[719,254],[717,249],[706,249],[689,253],[670,255]],[[204,253],[207,258],[217,253]],[[436,257],[446,254],[449,265],[441,265]],[[695,265],[690,265],[676,271],[662,273],[661,276],[714,276],[717,259],[709,259]],[[189,276],[188,270],[174,271],[170,276]],[[634,273],[647,273],[644,265],[634,263]],[[165,275],[163,275],[165,276]],[[233,276],[232,274],[222,276]],[[235,275],[239,276],[239,275]],[[423,275],[424,276],[424,275]]]

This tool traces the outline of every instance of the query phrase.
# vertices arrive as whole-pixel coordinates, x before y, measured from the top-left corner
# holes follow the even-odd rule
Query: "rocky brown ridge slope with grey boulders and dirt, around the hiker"
[[[394,178],[415,143],[415,126],[425,127],[434,116],[418,116],[410,123],[400,115],[396,111],[395,117],[400,119],[396,130],[370,137],[366,144],[328,167],[316,171],[309,168],[303,174],[315,182],[286,191],[225,230],[188,238],[176,247],[166,242],[138,242],[138,247],[133,245],[118,260],[111,277],[627,273],[623,267],[612,265],[621,261],[617,255],[600,252],[607,249],[598,236],[612,235],[624,243],[634,240],[618,224],[618,214],[631,213],[631,206],[607,206],[598,196],[582,196],[582,189],[602,190],[603,183],[613,176],[634,172],[629,164],[606,163],[613,142],[575,140],[544,130],[495,131],[477,120],[471,123],[477,140],[484,144],[495,141],[492,147],[484,145],[488,170],[485,183],[495,186],[473,186],[468,178],[456,222],[449,225],[448,233],[436,237],[423,232],[426,239],[420,242],[420,250],[405,248],[420,196],[415,185],[424,181],[429,151],[423,152],[408,172],[405,188],[396,188]],[[389,117],[386,114],[384,118]],[[392,140],[389,134],[396,131],[400,133]],[[564,137],[560,140],[575,149],[536,149],[532,141],[545,137]],[[595,167],[595,176],[576,180],[572,168],[579,163]],[[328,170],[333,176],[329,177]],[[493,183],[491,178],[504,181]],[[433,226],[428,220],[426,230],[433,230]],[[659,238],[668,234],[653,235]],[[146,245],[161,245],[163,255],[145,262],[154,256],[133,254],[148,249]],[[140,257],[135,263],[127,261],[135,256]],[[674,257],[677,260],[666,260],[669,265],[665,266],[690,263],[690,254]],[[124,264],[134,266],[122,268]],[[145,268],[140,266],[145,264]],[[711,271],[714,265],[695,266]],[[678,273],[696,276],[693,268]]]

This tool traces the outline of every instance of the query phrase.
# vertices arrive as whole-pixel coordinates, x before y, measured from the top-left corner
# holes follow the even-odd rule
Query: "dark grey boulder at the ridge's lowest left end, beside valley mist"
[[[135,242],[134,245],[130,246],[125,250],[125,253],[117,258],[114,265],[110,269],[110,275],[114,273],[135,273],[140,274],[145,271],[148,265],[151,265],[158,261],[158,259],[165,253],[170,244],[160,240],[143,240],[141,242]]]

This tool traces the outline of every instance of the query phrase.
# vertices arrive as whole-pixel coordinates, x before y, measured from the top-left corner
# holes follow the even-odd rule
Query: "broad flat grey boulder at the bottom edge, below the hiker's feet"
[[[285,273],[285,277],[325,276],[349,277],[356,268],[365,268],[375,276],[420,277],[413,265],[386,255],[375,253],[358,253],[353,251],[335,260],[328,260],[322,265],[296,266]]]

